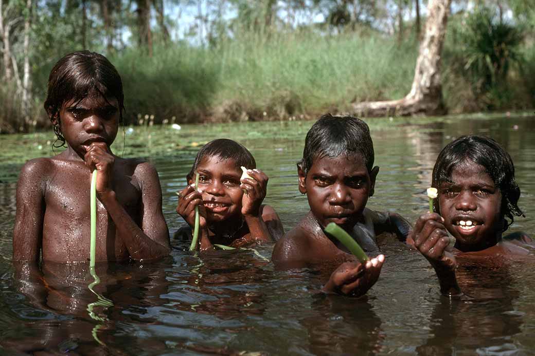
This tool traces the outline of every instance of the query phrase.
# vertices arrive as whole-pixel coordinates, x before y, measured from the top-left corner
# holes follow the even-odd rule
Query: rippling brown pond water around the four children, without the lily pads
[[[528,217],[517,219],[513,230],[533,235],[531,122],[459,119],[380,129],[370,121],[380,172],[369,206],[414,221],[426,209],[423,191],[440,149],[462,134],[485,134],[504,145],[515,162],[519,205]],[[300,123],[300,132],[311,124]],[[229,129],[225,136],[233,138],[232,133]],[[289,230],[308,206],[297,190],[295,169],[304,133],[239,140],[270,176],[266,203]],[[174,212],[174,191],[185,186],[195,153],[152,159],[171,236],[184,223]],[[102,321],[94,320],[87,306],[97,298],[87,288],[93,278],[86,264],[12,265],[15,188],[12,179],[0,183],[1,354],[453,355],[527,354],[535,347],[534,260],[464,261],[458,276],[466,293],[450,300],[439,295],[423,257],[389,236],[380,239],[383,273],[358,300],[320,293],[327,277],[321,268],[277,271],[254,251],[198,256],[186,251],[187,243],[173,241],[171,256],[155,264],[98,265],[101,283],[95,291],[113,305],[95,306]],[[257,252],[269,258],[272,247]]]

